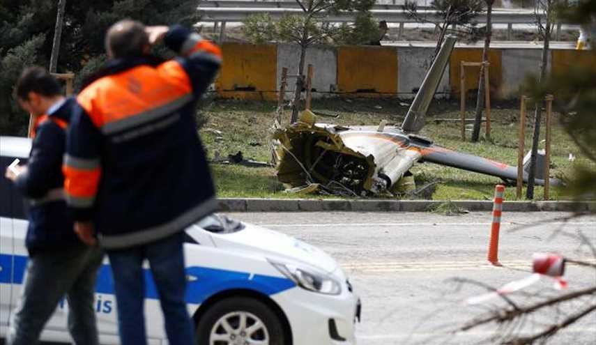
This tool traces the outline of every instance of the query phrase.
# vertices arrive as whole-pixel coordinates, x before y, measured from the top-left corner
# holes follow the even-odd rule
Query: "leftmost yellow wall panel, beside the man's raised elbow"
[[[244,100],[277,99],[277,47],[224,43],[224,63],[215,80],[217,93],[224,98]]]

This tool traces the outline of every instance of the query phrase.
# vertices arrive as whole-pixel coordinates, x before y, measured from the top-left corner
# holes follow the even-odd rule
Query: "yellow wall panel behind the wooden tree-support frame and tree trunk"
[[[456,48],[453,49],[449,63],[449,84],[451,91],[459,98],[459,85],[460,85],[460,66],[461,61],[466,62],[481,62],[482,61],[482,49],[468,49],[468,48]],[[495,95],[496,91],[501,88],[503,82],[503,68],[501,66],[501,50],[490,49],[489,50],[489,84],[491,86],[491,95]],[[480,73],[480,67],[466,67],[466,80],[464,85],[466,90],[477,90],[478,89],[478,77]]]

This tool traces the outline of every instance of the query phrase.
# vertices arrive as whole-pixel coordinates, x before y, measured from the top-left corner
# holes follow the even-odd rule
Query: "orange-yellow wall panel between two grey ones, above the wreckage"
[[[392,47],[340,47],[337,91],[362,95],[397,93],[397,51]]]

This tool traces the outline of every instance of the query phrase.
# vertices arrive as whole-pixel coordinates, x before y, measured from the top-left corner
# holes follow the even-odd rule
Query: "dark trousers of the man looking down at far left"
[[[99,344],[93,301],[102,258],[98,247],[85,245],[33,255],[27,263],[24,286],[6,344],[37,344],[43,326],[65,293],[68,330],[75,344]]]

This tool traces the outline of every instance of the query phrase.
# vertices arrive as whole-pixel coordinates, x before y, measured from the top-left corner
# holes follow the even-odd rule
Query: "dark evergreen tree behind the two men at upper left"
[[[13,88],[24,67],[49,67],[58,3],[0,2],[0,135],[26,135],[28,116],[17,106]],[[198,0],[67,1],[57,72],[75,72],[79,86],[105,62],[104,35],[114,22],[132,18],[148,25],[192,26],[200,19],[198,4]]]

